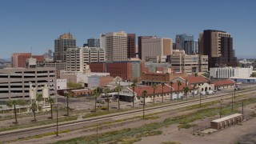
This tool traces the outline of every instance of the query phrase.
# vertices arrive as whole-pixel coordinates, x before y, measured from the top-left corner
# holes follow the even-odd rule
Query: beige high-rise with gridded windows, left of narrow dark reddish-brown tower
[[[127,42],[127,34],[124,31],[100,35],[100,46],[106,50],[107,61],[126,61]]]

